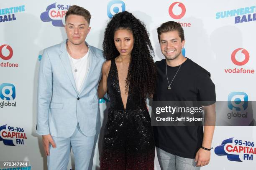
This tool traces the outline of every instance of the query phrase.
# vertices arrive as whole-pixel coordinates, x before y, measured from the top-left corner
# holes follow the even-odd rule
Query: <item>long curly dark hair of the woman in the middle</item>
[[[153,95],[156,88],[156,66],[152,55],[154,49],[149,40],[146,25],[131,13],[117,13],[108,23],[104,40],[103,54],[106,60],[118,57],[120,53],[115,47],[114,33],[119,29],[127,29],[133,33],[133,50],[126,78],[126,91],[129,87],[136,101],[146,100],[147,95]]]

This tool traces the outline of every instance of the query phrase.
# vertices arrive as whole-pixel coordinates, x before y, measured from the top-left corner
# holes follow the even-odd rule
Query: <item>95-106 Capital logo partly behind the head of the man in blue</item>
[[[65,15],[70,5],[53,3],[46,7],[46,11],[41,13],[40,18],[43,22],[51,22],[54,27],[63,27],[65,25]]]

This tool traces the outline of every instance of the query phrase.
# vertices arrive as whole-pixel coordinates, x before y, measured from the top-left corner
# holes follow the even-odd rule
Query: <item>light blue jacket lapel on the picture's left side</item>
[[[67,72],[69,80],[71,81],[72,86],[74,87],[74,89],[77,92],[77,86],[76,86],[75,81],[74,81],[74,76],[73,76],[73,73],[72,73],[72,68],[71,68],[68,53],[67,53],[66,42],[67,42],[67,40],[64,41],[61,44],[60,50],[61,50],[62,53],[59,56],[61,58],[61,62],[63,64],[63,66],[64,66],[64,68]]]

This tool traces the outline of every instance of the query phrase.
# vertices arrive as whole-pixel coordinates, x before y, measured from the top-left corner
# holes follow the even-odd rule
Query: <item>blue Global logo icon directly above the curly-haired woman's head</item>
[[[108,2],[107,14],[108,18],[112,18],[116,13],[125,11],[125,3],[121,0],[112,0]]]

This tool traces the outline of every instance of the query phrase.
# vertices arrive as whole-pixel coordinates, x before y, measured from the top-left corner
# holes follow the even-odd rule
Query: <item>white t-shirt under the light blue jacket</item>
[[[88,70],[88,66],[87,62],[88,62],[88,56],[89,56],[89,49],[88,52],[86,53],[86,55],[84,55],[84,57],[80,58],[80,59],[74,59],[72,58],[69,53],[69,62],[71,65],[71,69],[72,69],[72,73],[74,76],[74,80],[77,86],[77,91],[80,91],[80,88],[84,82],[84,79],[87,75],[87,70]]]

